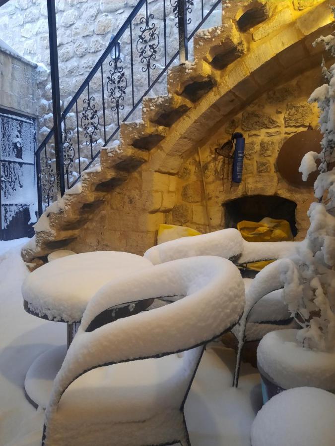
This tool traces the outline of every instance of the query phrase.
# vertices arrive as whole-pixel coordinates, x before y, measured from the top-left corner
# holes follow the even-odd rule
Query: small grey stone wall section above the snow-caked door
[[[36,67],[0,42],[0,107],[37,116]]]

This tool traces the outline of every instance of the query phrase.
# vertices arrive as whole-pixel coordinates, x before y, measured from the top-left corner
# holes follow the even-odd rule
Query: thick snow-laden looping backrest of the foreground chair
[[[87,331],[106,309],[161,296],[183,296],[153,310],[134,314]],[[232,328],[244,308],[244,283],[228,260],[203,256],[180,259],[104,285],[90,300],[61,370],[54,381],[46,424],[67,387],[82,374],[106,365],[161,357],[203,345]],[[196,353],[199,358],[199,351]],[[197,365],[186,355],[190,371]],[[179,392],[181,403],[185,395]]]

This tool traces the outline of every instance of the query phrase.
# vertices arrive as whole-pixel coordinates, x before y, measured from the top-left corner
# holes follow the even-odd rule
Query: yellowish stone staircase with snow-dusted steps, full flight
[[[99,207],[106,194],[148,162],[153,149],[163,150],[155,151],[150,157],[150,168],[161,173],[177,173],[181,155],[201,140],[204,126],[208,122],[214,125],[242,104],[244,93],[238,96],[229,86],[230,74],[238,59],[248,55],[254,36],[252,27],[259,25],[258,30],[266,27],[267,19],[274,18],[273,14],[277,17],[283,8],[292,7],[291,4],[266,0],[231,4],[222,1],[224,25],[196,33],[195,61],[169,69],[168,95],[144,98],[142,121],[121,124],[119,146],[103,148],[101,169],[93,168],[82,174],[80,193],[73,194],[70,190],[44,213],[37,223],[36,239],[22,250],[23,259],[40,263],[41,259],[34,259],[44,261],[51,251],[66,247],[87,223],[91,210]],[[166,163],[169,170],[164,170]]]

